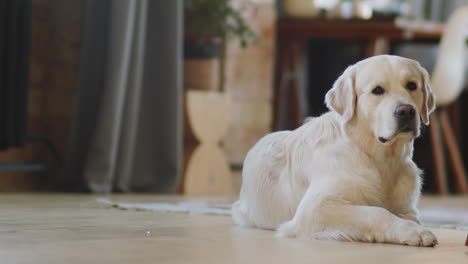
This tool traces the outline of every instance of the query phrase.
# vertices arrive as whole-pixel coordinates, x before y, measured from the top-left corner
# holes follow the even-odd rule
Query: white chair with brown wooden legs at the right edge
[[[450,155],[457,189],[461,193],[468,193],[466,171],[448,113],[448,107],[458,99],[464,88],[467,38],[468,6],[464,6],[455,10],[446,24],[431,77],[431,87],[436,97],[437,110],[430,119],[430,134],[435,180],[439,194],[448,193],[444,141]]]

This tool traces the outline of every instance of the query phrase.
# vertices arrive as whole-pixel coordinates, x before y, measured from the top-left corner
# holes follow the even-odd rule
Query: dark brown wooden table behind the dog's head
[[[424,24],[420,24],[424,27]],[[297,61],[301,43],[307,39],[360,39],[367,42],[366,56],[387,54],[389,41],[429,41],[437,43],[443,26],[431,30],[409,29],[390,20],[280,19],[277,24],[275,87],[273,93],[273,131],[280,128],[283,99],[289,93],[289,118],[296,128],[302,120],[299,111]]]

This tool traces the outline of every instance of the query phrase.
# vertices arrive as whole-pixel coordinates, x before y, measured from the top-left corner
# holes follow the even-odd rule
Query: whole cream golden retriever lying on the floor
[[[429,124],[435,107],[426,70],[371,57],[348,67],[325,102],[328,113],[249,151],[234,222],[279,237],[435,246],[418,218],[412,161],[420,119]]]

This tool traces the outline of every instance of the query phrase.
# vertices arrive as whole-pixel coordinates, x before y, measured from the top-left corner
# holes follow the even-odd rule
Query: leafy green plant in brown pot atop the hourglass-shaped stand
[[[246,47],[255,34],[229,0],[185,0],[184,18],[184,86],[218,90],[223,40],[238,38]]]

